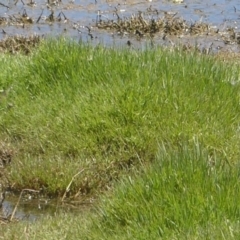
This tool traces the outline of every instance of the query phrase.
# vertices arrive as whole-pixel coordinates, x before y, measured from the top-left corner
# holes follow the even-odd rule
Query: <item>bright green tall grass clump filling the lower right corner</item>
[[[161,148],[143,175],[128,177],[103,200],[97,226],[102,239],[216,239],[213,230],[239,224],[239,195],[238,166],[198,145],[190,151]],[[230,232],[222,229],[227,239]]]

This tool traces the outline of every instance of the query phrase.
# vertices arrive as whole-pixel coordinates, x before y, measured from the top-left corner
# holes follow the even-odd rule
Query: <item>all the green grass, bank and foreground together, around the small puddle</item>
[[[11,186],[62,196],[81,172],[68,197],[109,190],[84,216],[0,226],[3,239],[240,237],[237,64],[64,39],[0,63]]]

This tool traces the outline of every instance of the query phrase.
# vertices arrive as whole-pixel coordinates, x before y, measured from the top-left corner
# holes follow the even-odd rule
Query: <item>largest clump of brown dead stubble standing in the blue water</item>
[[[155,13],[152,15],[152,13]],[[159,12],[139,12],[129,18],[121,18],[117,11],[115,12],[116,19],[104,20],[99,17],[97,27],[99,29],[116,30],[119,33],[131,33],[140,37],[146,34],[155,34],[162,32],[168,35],[190,34],[197,35],[208,32],[213,32],[210,25],[203,22],[188,23],[177,13],[164,12],[162,16]]]

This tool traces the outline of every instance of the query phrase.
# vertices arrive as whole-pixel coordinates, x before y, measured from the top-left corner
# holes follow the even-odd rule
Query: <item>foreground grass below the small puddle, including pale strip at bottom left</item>
[[[163,145],[150,166],[124,177],[95,211],[0,230],[4,239],[239,239],[239,176],[239,164],[198,143],[175,151]]]

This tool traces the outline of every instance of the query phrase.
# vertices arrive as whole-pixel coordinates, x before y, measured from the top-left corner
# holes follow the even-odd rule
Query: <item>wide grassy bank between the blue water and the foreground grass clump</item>
[[[151,162],[159,143],[198,139],[238,160],[237,66],[196,53],[41,44],[0,58],[0,138],[15,189],[62,195],[106,189],[129,166]]]

